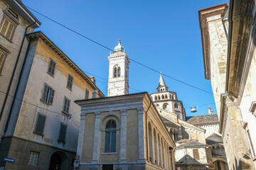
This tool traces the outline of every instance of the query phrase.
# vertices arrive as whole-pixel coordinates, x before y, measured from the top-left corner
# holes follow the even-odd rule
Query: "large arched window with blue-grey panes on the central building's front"
[[[116,151],[116,135],[117,123],[114,120],[109,120],[106,125],[105,152]]]

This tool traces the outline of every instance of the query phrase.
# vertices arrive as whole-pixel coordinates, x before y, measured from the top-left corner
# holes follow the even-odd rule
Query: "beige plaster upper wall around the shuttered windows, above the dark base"
[[[21,106],[14,135],[76,152],[80,124],[80,106],[73,101],[85,98],[85,89],[90,91],[90,97],[92,97],[92,88],[41,40],[33,41],[31,48],[36,48],[36,54],[34,54],[31,72],[23,97],[23,101],[26,102],[23,102]],[[33,55],[29,57],[33,57]],[[54,77],[47,73],[50,58],[56,62]],[[68,74],[73,76],[72,90],[66,87]],[[47,105],[41,101],[45,83],[55,90],[53,105]],[[71,121],[67,114],[62,113],[64,96],[70,99],[69,113],[72,114]],[[43,136],[34,133],[38,113],[46,115]],[[58,142],[60,123],[67,125],[65,145],[62,142]]]

